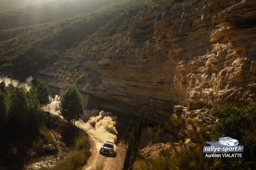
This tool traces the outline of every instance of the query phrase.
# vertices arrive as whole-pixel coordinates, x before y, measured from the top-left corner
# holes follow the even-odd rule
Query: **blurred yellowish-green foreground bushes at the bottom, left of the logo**
[[[182,118],[183,119],[183,118]],[[165,128],[172,134],[176,131],[183,131],[186,127],[184,120],[172,117],[171,122],[165,125]],[[202,148],[205,141],[210,140],[207,129],[200,124],[191,121],[191,130],[187,131],[187,135],[191,139],[191,143],[184,144],[180,140],[175,140],[172,135],[169,136],[170,145],[167,149],[162,150],[156,158],[147,158],[139,155],[134,162],[134,170],[161,169],[210,169],[218,167],[218,160],[205,158]]]

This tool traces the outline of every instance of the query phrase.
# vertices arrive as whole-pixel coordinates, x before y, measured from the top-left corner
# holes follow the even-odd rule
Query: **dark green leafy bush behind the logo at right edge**
[[[238,140],[239,145],[244,146],[242,160],[223,159],[223,166],[252,169],[256,165],[254,159],[256,157],[256,102],[250,100],[248,105],[240,108],[227,104],[221,109],[212,109],[210,115],[215,117],[216,122],[210,128],[212,140],[218,140],[219,137],[232,137]]]

